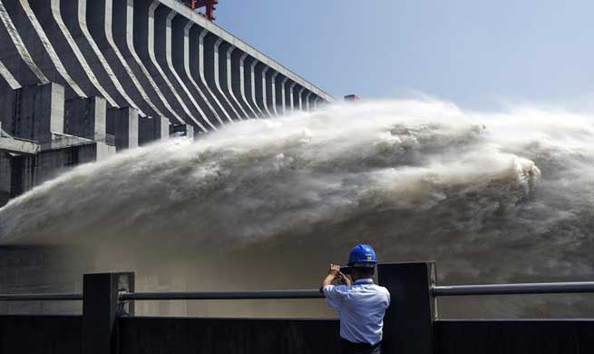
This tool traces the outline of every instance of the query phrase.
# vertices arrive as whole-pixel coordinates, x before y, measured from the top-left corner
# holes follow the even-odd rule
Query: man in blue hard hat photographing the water
[[[330,307],[340,316],[340,342],[343,354],[380,354],[385,309],[390,305],[390,292],[374,284],[375,251],[371,246],[359,244],[348,257],[351,280],[341,272],[340,266],[330,264],[320,291]],[[339,278],[345,285],[335,286]]]

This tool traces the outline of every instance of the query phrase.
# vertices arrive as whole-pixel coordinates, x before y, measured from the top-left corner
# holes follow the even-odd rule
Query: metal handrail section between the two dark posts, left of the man
[[[120,300],[324,299],[319,290],[122,292]]]

